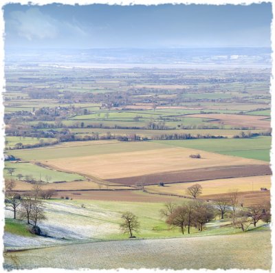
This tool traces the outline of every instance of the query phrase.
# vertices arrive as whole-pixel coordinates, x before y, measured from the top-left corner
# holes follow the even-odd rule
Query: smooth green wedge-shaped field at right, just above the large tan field
[[[257,138],[155,140],[154,142],[268,162],[270,161],[271,140],[269,136],[261,136]]]

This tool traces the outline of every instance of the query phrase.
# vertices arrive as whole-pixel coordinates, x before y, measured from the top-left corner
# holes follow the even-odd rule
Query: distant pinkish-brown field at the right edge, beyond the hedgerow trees
[[[210,118],[216,119],[214,123],[226,124],[238,127],[254,127],[259,129],[269,129],[270,121],[263,120],[266,116],[244,116],[223,113],[203,113],[188,115],[189,118]],[[218,121],[217,121],[218,120]]]

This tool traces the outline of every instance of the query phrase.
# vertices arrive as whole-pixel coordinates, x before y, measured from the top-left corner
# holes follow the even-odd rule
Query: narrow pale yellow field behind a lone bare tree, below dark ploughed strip
[[[186,189],[195,184],[190,183],[178,183],[178,184],[166,184],[165,186],[146,186],[146,190],[153,193],[171,193],[175,195],[186,195]],[[203,190],[202,195],[214,195],[219,193],[228,193],[232,189],[238,189],[240,192],[251,191],[252,186],[254,190],[260,190],[261,188],[270,189],[271,176],[261,175],[252,177],[236,177],[228,179],[214,179],[208,181],[201,181]]]

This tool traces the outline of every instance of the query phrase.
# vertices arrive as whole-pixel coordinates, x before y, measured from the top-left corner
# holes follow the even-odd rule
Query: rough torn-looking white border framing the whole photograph
[[[272,0],[267,0],[267,1],[254,1],[254,0],[190,0],[190,1],[184,1],[184,0],[174,0],[174,1],[169,1],[169,0],[136,0],[136,1],[131,1],[131,0],[120,0],[120,1],[116,1],[116,0],[36,0],[36,1],[28,1],[28,0],[12,0],[12,1],[8,1],[8,0],[1,0],[1,11],[0,11],[0,33],[1,36],[3,37],[0,40],[0,83],[1,83],[1,92],[5,91],[5,74],[4,74],[4,35],[5,35],[5,30],[4,30],[4,20],[3,20],[3,6],[5,6],[8,3],[21,3],[22,5],[45,5],[45,4],[50,4],[50,3],[63,3],[63,4],[69,4],[69,5],[87,5],[87,4],[91,4],[91,3],[102,3],[102,4],[109,4],[109,5],[120,5],[120,6],[131,6],[131,5],[137,5],[137,4],[142,4],[142,5],[158,5],[158,4],[163,4],[163,3],[173,3],[173,4],[179,4],[179,3],[184,3],[184,4],[214,4],[214,5],[225,5],[225,4],[233,4],[233,5],[250,5],[252,3],[272,3]],[[275,16],[275,3],[272,3],[272,14],[273,17]],[[275,59],[275,41],[274,41],[274,36],[275,36],[275,31],[274,31],[274,25],[275,25],[275,19],[272,19],[272,25],[271,25],[271,38],[272,38],[272,76],[271,76],[271,86],[270,86],[270,92],[272,92],[272,90],[275,89],[275,68],[274,68],[274,59]],[[272,96],[272,105],[275,105],[275,98],[274,96]],[[0,154],[1,154],[1,166],[0,166],[0,177],[1,177],[1,181],[2,181],[2,189],[4,189],[4,184],[3,184],[3,147],[4,147],[4,123],[3,123],[3,96],[0,96],[0,122],[1,122],[1,131],[0,131]],[[272,129],[274,128],[274,111],[272,110],[271,113],[272,116]],[[274,160],[275,160],[275,155],[274,155],[274,144],[275,144],[275,140],[273,138],[273,134],[272,134],[272,150],[271,150],[271,166],[272,166],[272,172],[274,173],[275,168],[274,168]],[[272,175],[272,188],[271,188],[271,195],[272,195],[272,215],[275,215],[275,207],[273,206],[274,203],[274,176]],[[4,203],[3,203],[3,191],[1,190],[0,193],[0,200],[1,200],[1,204],[0,204],[0,212],[1,212],[1,227],[0,227],[0,251],[1,253],[3,253],[3,226],[4,226]],[[273,243],[274,243],[274,222],[272,222],[271,224],[271,228],[272,228],[272,261],[274,261],[274,254],[275,254],[275,250],[273,247]],[[259,247],[261,247],[261,245],[259,245]],[[2,265],[2,269],[3,269],[3,255],[0,255],[0,263]],[[257,257],[251,257],[251,259],[257,259]],[[85,271],[85,272],[102,272],[102,273],[106,273],[106,272],[121,272],[121,273],[126,273],[126,272],[130,272],[130,270],[124,270],[124,269],[120,269],[120,270],[58,270],[58,269],[52,269],[52,268],[43,268],[43,269],[37,269],[37,270],[24,270],[24,272],[48,272],[50,270],[50,272],[78,272],[78,271]],[[201,269],[201,270],[157,270],[158,272],[190,272],[190,273],[194,273],[194,272],[212,272],[213,270],[205,270],[205,269]],[[254,273],[263,273],[263,272],[268,272],[267,270],[214,270],[215,272],[254,272]],[[21,272],[21,270],[12,270],[12,272]],[[135,273],[135,272],[156,272],[156,270],[148,270],[148,269],[141,269],[141,270],[131,270],[131,272]],[[272,271],[271,272],[275,272],[275,266],[274,263],[272,263]]]

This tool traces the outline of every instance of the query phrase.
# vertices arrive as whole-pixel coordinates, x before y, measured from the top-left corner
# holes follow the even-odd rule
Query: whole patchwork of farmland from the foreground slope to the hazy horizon
[[[177,50],[167,63],[78,63],[87,52],[54,52],[5,63],[4,267],[270,269],[270,65],[203,56],[210,65],[186,66]],[[236,212],[265,211],[244,230],[231,203],[224,218],[215,204],[234,193]],[[41,206],[41,233],[22,211],[12,219],[9,198]],[[185,220],[182,234],[168,204],[210,216]],[[135,239],[120,226],[127,210]]]

